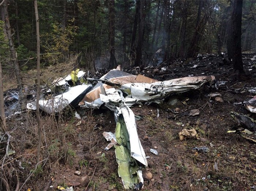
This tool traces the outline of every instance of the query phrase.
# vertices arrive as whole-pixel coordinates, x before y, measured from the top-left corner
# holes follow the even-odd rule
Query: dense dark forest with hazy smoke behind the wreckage
[[[6,0],[7,1],[7,0]],[[36,68],[34,1],[8,0],[17,59]],[[41,66],[68,62],[98,70],[172,63],[177,58],[227,51],[233,1],[229,0],[44,0],[38,1]],[[255,51],[256,1],[242,5],[242,51]],[[3,11],[1,11],[1,14]],[[3,20],[3,15],[2,15]],[[5,28],[0,31],[3,71],[12,70]]]

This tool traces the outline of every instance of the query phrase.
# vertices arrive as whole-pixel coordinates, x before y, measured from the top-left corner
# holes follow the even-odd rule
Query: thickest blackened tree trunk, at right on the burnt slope
[[[230,34],[227,42],[227,55],[232,60],[235,72],[244,73],[241,51],[242,0],[232,1]]]

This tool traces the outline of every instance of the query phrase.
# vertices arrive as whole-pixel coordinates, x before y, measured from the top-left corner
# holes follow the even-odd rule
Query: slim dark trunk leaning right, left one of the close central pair
[[[137,25],[138,25],[138,18],[140,15],[140,0],[136,1],[136,11],[134,16],[134,24],[133,24],[133,31],[132,31],[132,40],[131,40],[131,65],[133,65],[135,60],[135,39],[136,39],[136,32],[137,32]]]

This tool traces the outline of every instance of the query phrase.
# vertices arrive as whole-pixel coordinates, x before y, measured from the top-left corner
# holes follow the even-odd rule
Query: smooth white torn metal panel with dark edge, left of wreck
[[[77,85],[70,87],[68,91],[63,94],[56,95],[53,98],[39,100],[39,108],[46,113],[52,114],[63,110],[69,104],[75,106],[79,103],[82,97],[91,89],[91,85]],[[36,109],[36,103],[30,102],[27,104],[27,109]]]

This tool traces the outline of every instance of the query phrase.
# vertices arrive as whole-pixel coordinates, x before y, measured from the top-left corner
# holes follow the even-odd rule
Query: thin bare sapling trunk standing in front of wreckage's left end
[[[37,163],[39,163],[41,150],[41,118],[39,112],[39,96],[40,96],[40,38],[39,38],[39,17],[37,9],[37,0],[34,0],[35,6],[35,27],[37,30],[37,125],[38,125],[38,145],[37,145]]]

